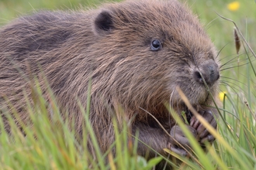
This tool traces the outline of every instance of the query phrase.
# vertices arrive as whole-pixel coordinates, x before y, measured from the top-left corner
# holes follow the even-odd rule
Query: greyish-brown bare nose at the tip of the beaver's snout
[[[197,82],[203,83],[202,76],[206,80],[207,85],[213,86],[213,83],[220,78],[219,66],[213,60],[207,60],[198,70],[194,72],[194,78]]]

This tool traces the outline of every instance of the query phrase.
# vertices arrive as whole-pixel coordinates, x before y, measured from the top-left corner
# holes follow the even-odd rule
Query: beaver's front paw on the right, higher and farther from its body
[[[217,127],[217,123],[215,118],[213,117],[213,112],[211,110],[199,110],[199,114],[202,115],[203,118],[206,119],[206,121],[209,122],[213,126],[213,128]],[[212,134],[209,134],[209,131],[199,122],[199,120],[196,119],[195,116],[193,116],[190,120],[190,126],[194,128],[197,131],[199,142],[203,144],[205,141],[209,141],[209,143],[212,143],[215,138]]]

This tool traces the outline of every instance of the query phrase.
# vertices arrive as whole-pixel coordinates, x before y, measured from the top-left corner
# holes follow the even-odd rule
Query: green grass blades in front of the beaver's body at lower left
[[[113,158],[112,148],[102,153],[84,107],[81,107],[85,120],[84,138],[78,139],[71,130],[74,129],[72,128],[74,124],[70,126],[70,122],[61,117],[54,97],[50,97],[48,101],[45,100],[39,86],[32,91],[36,95],[36,100],[33,100],[35,108],[30,107],[28,101],[29,121],[25,122],[26,125],[23,122],[14,121],[19,120],[19,114],[16,111],[14,111],[16,113],[14,117],[5,111],[4,114],[9,119],[11,127],[10,135],[3,131],[3,120],[0,117],[0,169],[148,170],[161,161],[162,158],[156,157],[147,162],[145,158],[136,155],[137,141],[135,144],[128,144],[126,124],[123,124],[123,130],[119,131],[114,118],[112,121],[116,141],[112,148],[116,148],[116,157]],[[53,96],[50,90],[47,94]],[[18,127],[17,124],[20,126]],[[92,153],[88,151],[88,137],[92,139],[95,157],[92,157]]]

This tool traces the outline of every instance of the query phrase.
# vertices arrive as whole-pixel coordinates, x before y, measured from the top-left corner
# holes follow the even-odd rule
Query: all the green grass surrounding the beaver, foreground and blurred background
[[[95,6],[102,1],[81,1],[81,0],[4,0],[0,2],[0,24],[5,25],[9,20],[15,19],[18,15],[32,12],[34,9],[67,9],[80,8],[80,5]],[[192,158],[181,158],[183,163],[181,169],[256,169],[256,79],[255,79],[255,57],[253,56],[244,39],[251,46],[256,47],[254,28],[256,28],[256,4],[253,0],[240,0],[240,8],[230,11],[227,5],[232,1],[204,1],[191,0],[189,6],[199,15],[206,31],[213,39],[216,49],[220,50],[221,86],[223,92],[218,121],[218,132],[210,129],[216,137],[213,147],[205,154],[196,144],[195,140],[188,138],[193,143],[194,155]],[[234,24],[219,15],[234,20],[241,35],[241,49],[236,53],[234,43]],[[35,89],[40,94],[40,88]],[[50,93],[50,91],[49,91]],[[136,155],[136,144],[127,143],[126,126],[123,131],[116,128],[116,157],[109,153],[102,154],[98,151],[96,159],[89,154],[86,140],[84,138],[79,145],[74,138],[74,131],[70,131],[60,116],[60,110],[54,99],[50,102],[54,108],[54,121],[50,122],[47,117],[46,101],[39,98],[36,109],[28,108],[33,128],[24,127],[27,132],[26,138],[12,123],[12,137],[5,131],[0,135],[0,169],[150,169],[160,161],[154,158],[147,162],[144,158]],[[84,113],[86,115],[86,111]],[[6,113],[8,115],[8,113]],[[200,117],[198,117],[199,120]],[[88,117],[85,116],[85,122]],[[113,120],[115,122],[115,120]],[[60,127],[61,124],[61,128]],[[182,126],[182,123],[179,123]],[[206,124],[202,120],[202,124]],[[206,124],[207,126],[207,124]],[[117,127],[117,126],[116,126]],[[0,124],[2,129],[2,124]],[[85,133],[93,137],[93,131],[89,124],[85,124]],[[36,138],[35,138],[36,136]],[[99,148],[95,142],[95,148]],[[171,151],[171,155],[180,158]],[[107,160],[107,163],[106,163]]]

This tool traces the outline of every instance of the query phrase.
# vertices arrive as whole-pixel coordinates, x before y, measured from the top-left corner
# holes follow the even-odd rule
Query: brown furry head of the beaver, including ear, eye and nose
[[[157,115],[164,103],[182,105],[180,87],[192,105],[216,95],[219,63],[198,19],[179,2],[138,1],[106,6],[94,21],[95,75],[112,100],[127,110]],[[209,91],[205,87],[206,81]]]

